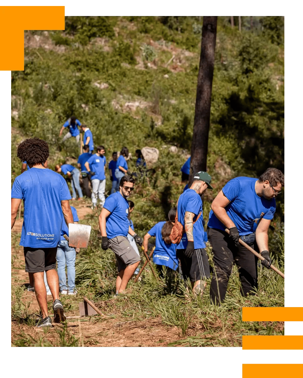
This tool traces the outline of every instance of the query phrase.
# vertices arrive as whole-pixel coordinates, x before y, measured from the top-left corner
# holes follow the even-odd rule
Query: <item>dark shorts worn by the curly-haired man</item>
[[[25,257],[25,271],[28,273],[56,269],[57,247],[41,249],[23,247],[23,253]]]

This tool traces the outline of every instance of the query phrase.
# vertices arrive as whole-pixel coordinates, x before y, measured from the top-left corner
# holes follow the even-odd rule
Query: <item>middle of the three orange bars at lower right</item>
[[[298,350],[303,349],[303,336],[242,336],[242,349]]]

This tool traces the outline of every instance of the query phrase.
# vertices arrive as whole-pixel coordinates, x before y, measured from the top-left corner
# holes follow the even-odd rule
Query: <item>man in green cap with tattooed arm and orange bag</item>
[[[178,221],[183,225],[185,233],[177,245],[177,257],[181,262],[184,280],[191,281],[194,294],[202,294],[204,287],[201,280],[210,277],[208,256],[203,241],[203,207],[201,195],[206,189],[212,189],[211,177],[208,173],[199,171],[194,175],[194,181],[189,189],[178,199]],[[188,288],[187,288],[188,290]]]

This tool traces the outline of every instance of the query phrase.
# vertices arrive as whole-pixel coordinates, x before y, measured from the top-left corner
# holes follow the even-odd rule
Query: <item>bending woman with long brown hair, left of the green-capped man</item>
[[[170,209],[168,213],[168,222],[158,222],[153,226],[143,238],[145,252],[148,251],[148,239],[156,237],[156,246],[153,253],[153,263],[161,277],[164,277],[163,266],[166,266],[166,272],[170,276],[178,268],[178,258],[176,257],[176,245],[170,240],[170,232],[175,224],[176,208]]]

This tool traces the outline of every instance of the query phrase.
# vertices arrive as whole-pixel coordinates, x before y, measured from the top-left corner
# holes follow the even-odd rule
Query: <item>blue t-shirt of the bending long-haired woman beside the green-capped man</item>
[[[156,223],[149,231],[150,236],[156,237],[156,248],[153,253],[153,263],[165,265],[176,270],[178,268],[178,259],[176,258],[176,244],[166,244],[162,239],[161,230],[166,222]]]

